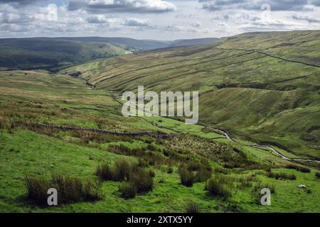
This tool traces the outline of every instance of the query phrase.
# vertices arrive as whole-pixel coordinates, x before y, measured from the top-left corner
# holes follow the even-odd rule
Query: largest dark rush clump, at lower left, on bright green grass
[[[41,205],[47,204],[47,192],[50,188],[57,189],[58,204],[102,199],[100,184],[92,180],[81,182],[77,178],[53,175],[49,181],[26,176],[24,182],[28,192],[27,198]]]

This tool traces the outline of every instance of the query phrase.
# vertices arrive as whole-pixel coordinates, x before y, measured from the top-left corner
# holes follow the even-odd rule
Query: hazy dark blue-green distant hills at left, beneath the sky
[[[0,39],[0,70],[43,69],[57,71],[102,57],[167,48],[199,45],[205,40],[136,40],[133,38],[4,38]]]

